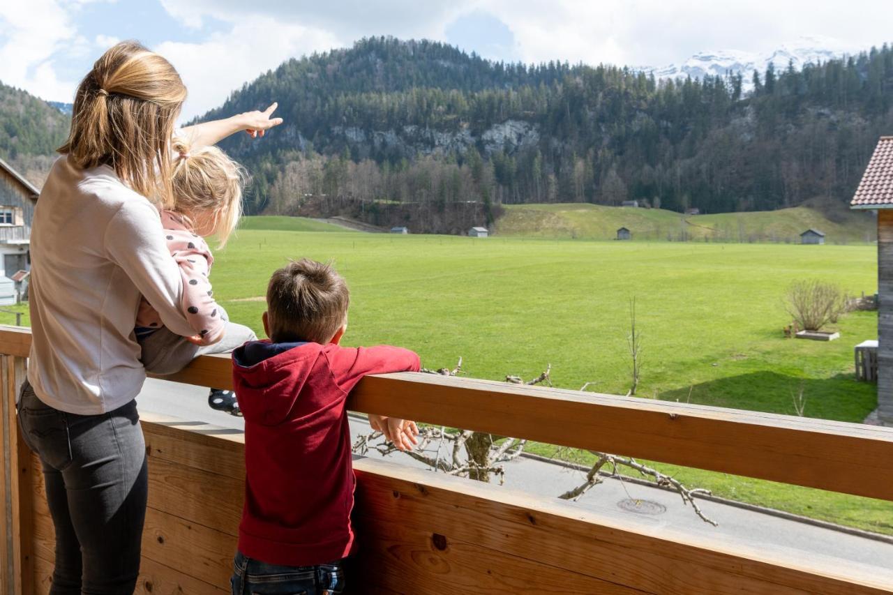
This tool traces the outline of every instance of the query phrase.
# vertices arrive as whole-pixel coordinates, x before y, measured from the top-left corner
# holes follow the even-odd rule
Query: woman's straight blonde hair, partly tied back
[[[167,60],[136,41],[109,48],[80,81],[59,153],[81,168],[109,165],[156,205],[171,205],[171,136],[186,87]]]

